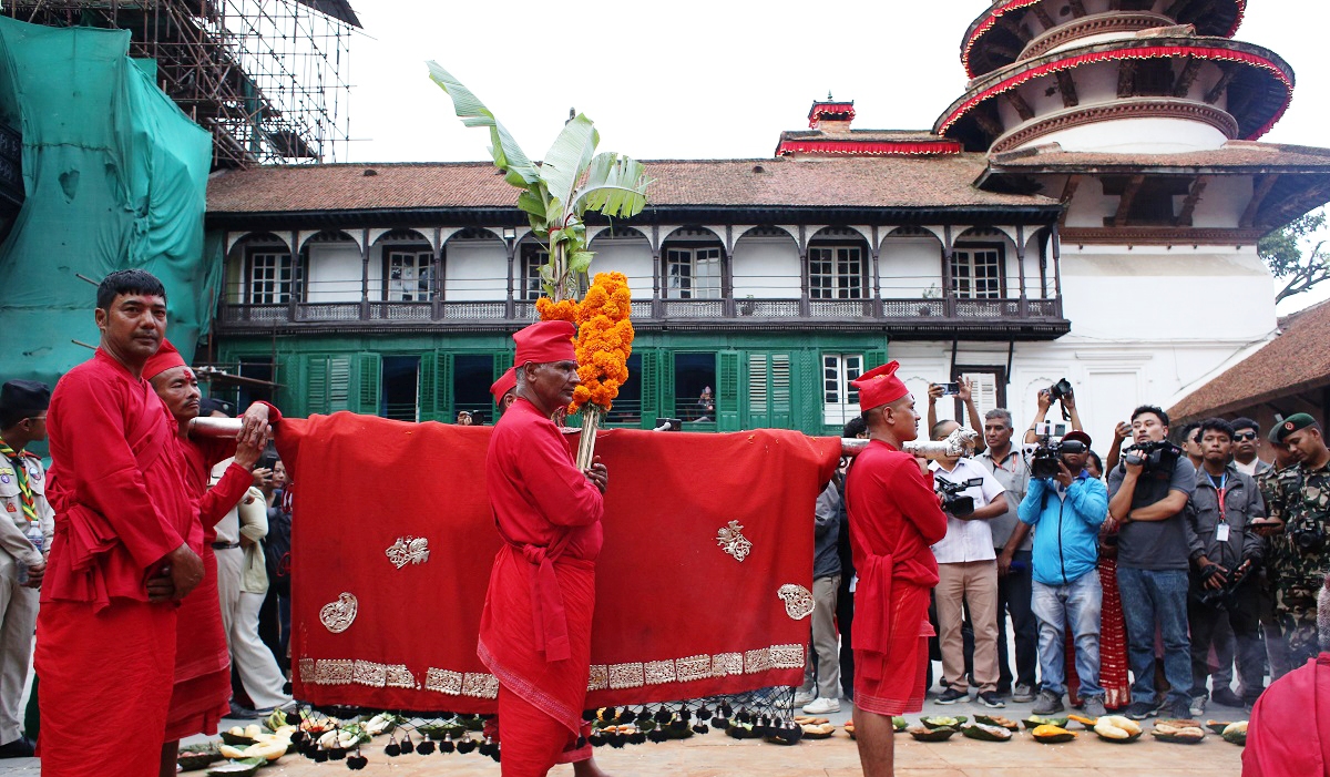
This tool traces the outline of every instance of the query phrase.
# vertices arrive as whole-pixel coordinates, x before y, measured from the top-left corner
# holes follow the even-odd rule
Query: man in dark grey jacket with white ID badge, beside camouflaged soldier
[[[1196,491],[1186,503],[1190,527],[1192,581],[1188,596],[1188,625],[1192,633],[1192,714],[1205,713],[1205,702],[1245,706],[1265,688],[1261,665],[1260,589],[1256,569],[1261,565],[1265,542],[1250,523],[1265,516],[1261,491],[1250,475],[1230,463],[1233,427],[1212,418],[1198,424],[1201,468]],[[1232,659],[1221,651],[1218,627],[1233,628],[1242,697],[1229,687]],[[1208,695],[1210,648],[1221,667],[1214,671]],[[1228,664],[1228,665],[1224,665]]]

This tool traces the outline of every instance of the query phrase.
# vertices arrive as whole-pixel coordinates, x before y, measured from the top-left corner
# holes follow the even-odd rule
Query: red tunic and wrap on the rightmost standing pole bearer
[[[928,668],[928,595],[938,561],[928,549],[947,534],[932,475],[882,440],[859,454],[846,478],[854,595],[854,704],[876,714],[923,709]]]

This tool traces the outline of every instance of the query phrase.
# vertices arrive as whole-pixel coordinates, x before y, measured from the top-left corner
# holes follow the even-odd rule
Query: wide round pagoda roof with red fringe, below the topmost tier
[[[1270,49],[1220,37],[1149,36],[1053,52],[975,78],[966,93],[942,113],[934,132],[962,140],[970,150],[987,149],[995,138],[975,125],[974,112],[979,105],[1043,76],[1105,61],[1160,57],[1190,57],[1241,67],[1229,85],[1229,94],[1246,92],[1252,96],[1245,109],[1233,116],[1242,140],[1257,140],[1269,132],[1293,100],[1293,68]]]

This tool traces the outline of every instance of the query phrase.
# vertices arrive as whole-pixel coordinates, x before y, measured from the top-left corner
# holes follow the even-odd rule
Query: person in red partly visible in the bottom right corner
[[[1330,777],[1330,575],[1317,631],[1321,655],[1271,683],[1252,708],[1242,777]]]

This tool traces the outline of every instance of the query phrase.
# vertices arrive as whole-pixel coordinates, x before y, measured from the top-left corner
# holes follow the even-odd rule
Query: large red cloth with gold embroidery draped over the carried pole
[[[293,519],[297,697],[497,709],[497,679],[476,655],[501,545],[484,483],[492,431],[352,414],[278,427],[278,450],[301,484]],[[576,444],[576,435],[567,439]],[[811,514],[839,439],[608,430],[596,452],[610,484],[585,705],[801,683],[811,597],[799,589],[813,583]],[[362,483],[375,484],[375,499],[352,490]],[[742,542],[733,543],[737,555],[718,542],[730,522],[750,543],[746,555]],[[564,599],[565,609],[571,603]]]

